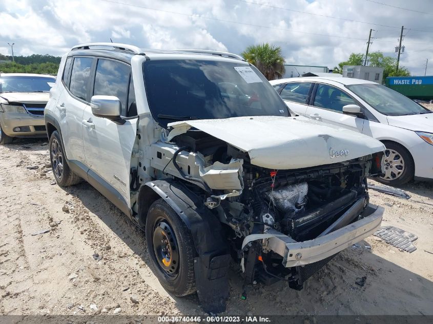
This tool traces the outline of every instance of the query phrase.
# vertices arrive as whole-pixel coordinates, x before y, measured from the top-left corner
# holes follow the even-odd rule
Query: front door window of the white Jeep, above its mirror
[[[128,87],[131,68],[121,62],[98,59],[93,95],[119,98],[122,115],[127,115]]]

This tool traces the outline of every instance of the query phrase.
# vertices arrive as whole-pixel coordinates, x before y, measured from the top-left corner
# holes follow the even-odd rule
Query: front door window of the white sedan
[[[352,98],[331,85],[318,84],[314,105],[316,107],[343,111],[346,104],[357,104]]]

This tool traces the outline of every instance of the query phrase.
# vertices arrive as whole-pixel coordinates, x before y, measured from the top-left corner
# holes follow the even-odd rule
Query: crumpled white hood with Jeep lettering
[[[169,139],[194,127],[248,152],[252,164],[273,169],[331,164],[385,150],[374,138],[305,117],[233,117],[168,125],[174,128]]]

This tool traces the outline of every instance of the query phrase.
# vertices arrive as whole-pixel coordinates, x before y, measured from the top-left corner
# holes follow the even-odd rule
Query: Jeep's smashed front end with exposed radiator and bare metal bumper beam
[[[252,167],[250,197],[240,198],[253,210],[252,219],[244,213],[230,220],[251,229],[234,240],[241,243],[248,282],[281,279],[302,289],[338,252],[373,234],[383,209],[369,204],[366,176],[380,173],[377,159],[379,154],[297,170]]]

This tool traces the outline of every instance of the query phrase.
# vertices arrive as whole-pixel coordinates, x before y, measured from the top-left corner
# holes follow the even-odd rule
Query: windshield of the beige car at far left
[[[0,77],[0,93],[2,92],[48,92],[54,77],[39,76],[2,76]]]

